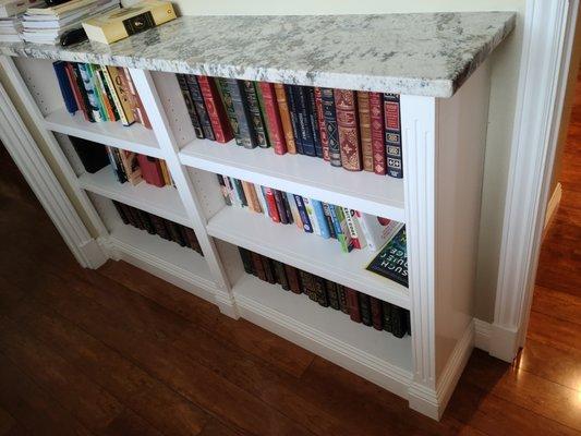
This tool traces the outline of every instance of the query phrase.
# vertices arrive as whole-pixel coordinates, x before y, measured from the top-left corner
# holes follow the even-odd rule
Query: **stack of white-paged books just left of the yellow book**
[[[63,33],[83,27],[82,22],[119,9],[120,0],[72,0],[50,8],[29,8],[23,16],[22,38],[57,45]]]

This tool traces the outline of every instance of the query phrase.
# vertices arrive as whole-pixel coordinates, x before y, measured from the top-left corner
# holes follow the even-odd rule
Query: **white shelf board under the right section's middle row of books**
[[[332,239],[304,233],[295,225],[274,223],[264,215],[233,206],[216,214],[207,231],[226,242],[410,308],[406,287],[365,270],[374,256],[366,249],[347,254]]]

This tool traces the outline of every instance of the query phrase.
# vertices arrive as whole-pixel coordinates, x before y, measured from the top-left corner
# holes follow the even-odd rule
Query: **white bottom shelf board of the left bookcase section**
[[[150,266],[154,265],[161,274],[150,270],[153,274],[162,278],[171,275],[171,278],[189,283],[187,289],[195,286],[209,292],[208,295],[198,296],[208,300],[214,292],[215,284],[206,259],[191,249],[122,222],[113,227],[109,242],[114,250],[121,252],[123,259],[136,266],[150,270]],[[173,281],[171,278],[169,281]]]

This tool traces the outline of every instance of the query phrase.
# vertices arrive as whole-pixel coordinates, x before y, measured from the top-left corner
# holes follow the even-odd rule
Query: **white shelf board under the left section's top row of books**
[[[81,112],[74,116],[66,109],[58,109],[45,117],[45,124],[52,132],[94,141],[153,157],[162,157],[153,130],[135,123],[124,126],[120,122],[92,123]]]

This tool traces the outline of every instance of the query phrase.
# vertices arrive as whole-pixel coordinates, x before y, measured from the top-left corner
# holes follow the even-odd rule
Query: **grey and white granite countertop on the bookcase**
[[[8,56],[450,97],[513,12],[183,16],[111,46],[0,44]]]

